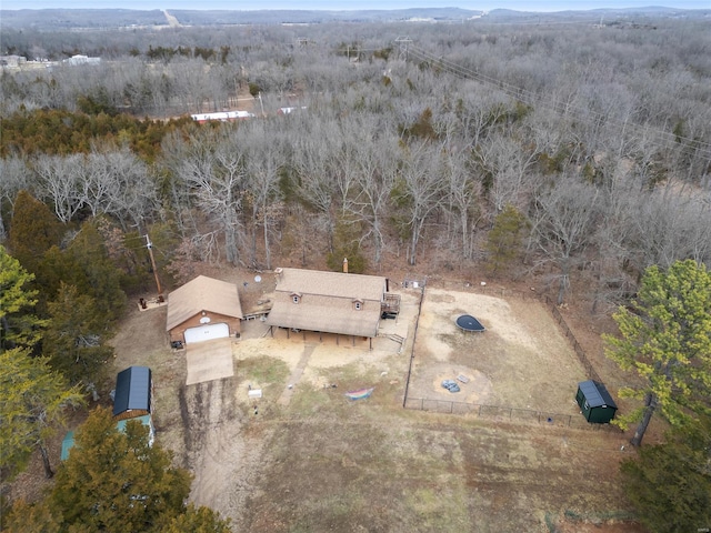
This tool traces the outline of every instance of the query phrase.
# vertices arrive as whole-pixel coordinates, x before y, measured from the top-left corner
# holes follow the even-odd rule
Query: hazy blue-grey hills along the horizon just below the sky
[[[413,8],[394,10],[169,10],[171,19],[181,26],[233,26],[233,24],[313,24],[324,22],[395,22],[433,21],[453,22],[481,19],[491,22],[544,22],[562,20],[593,20],[610,17],[711,17],[710,10],[683,10],[665,7],[595,9],[588,11],[533,12],[495,9],[490,12],[460,8]],[[160,28],[168,26],[161,10],[130,9],[0,9],[0,29],[80,30],[116,28]]]

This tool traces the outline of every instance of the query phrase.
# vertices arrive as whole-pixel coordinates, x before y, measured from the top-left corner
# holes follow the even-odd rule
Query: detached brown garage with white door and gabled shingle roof
[[[172,345],[239,336],[241,320],[234,283],[199,275],[168,295],[166,331]]]

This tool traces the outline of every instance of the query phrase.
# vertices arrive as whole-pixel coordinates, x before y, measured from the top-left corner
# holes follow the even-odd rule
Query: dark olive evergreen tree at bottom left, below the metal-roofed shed
[[[126,432],[108,409],[91,412],[58,470],[49,507],[62,530],[148,532],[184,512],[190,474],[171,466],[172,454],[148,442],[148,428],[129,421]]]

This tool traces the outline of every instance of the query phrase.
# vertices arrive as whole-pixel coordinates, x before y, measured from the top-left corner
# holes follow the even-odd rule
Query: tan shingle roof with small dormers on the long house
[[[277,269],[267,324],[362,338],[378,335],[388,280],[380,275]],[[273,330],[272,330],[273,331]]]

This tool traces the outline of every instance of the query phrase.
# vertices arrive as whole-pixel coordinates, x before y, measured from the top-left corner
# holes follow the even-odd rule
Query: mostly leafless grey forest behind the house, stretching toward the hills
[[[348,257],[353,272],[535,276],[591,313],[628,304],[651,266],[711,264],[704,19],[6,31],[1,44],[51,62],[0,78],[0,242],[31,292],[2,343],[68,386],[100,381],[126,294],[152,283],[147,241],[171,283],[199,261]],[[101,61],[61,62],[77,53]],[[189,118],[246,107],[257,117]],[[82,341],[62,345],[69,315]],[[42,333],[9,334],[23,329]]]

